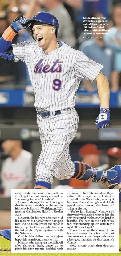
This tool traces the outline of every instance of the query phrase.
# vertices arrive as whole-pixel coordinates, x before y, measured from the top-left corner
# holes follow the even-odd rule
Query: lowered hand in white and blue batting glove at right
[[[110,110],[108,108],[100,108],[99,116],[96,118],[97,128],[106,128],[110,122]]]

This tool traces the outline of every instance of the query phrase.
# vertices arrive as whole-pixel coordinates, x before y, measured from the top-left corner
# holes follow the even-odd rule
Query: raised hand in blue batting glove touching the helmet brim
[[[24,17],[24,15],[19,15],[18,17],[16,17],[12,24],[11,24],[11,27],[14,28],[14,30],[16,31],[16,33],[18,33],[19,30],[22,30],[22,29],[26,29],[29,27],[30,23],[29,22],[30,19],[26,19]],[[26,24],[27,23],[27,24]]]

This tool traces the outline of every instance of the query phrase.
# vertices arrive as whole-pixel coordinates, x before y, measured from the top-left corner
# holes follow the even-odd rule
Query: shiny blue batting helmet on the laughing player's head
[[[34,37],[33,37],[32,28],[33,28],[34,23],[37,21],[54,26],[56,29],[55,35],[56,35],[56,37],[58,36],[59,23],[58,23],[58,20],[56,19],[56,17],[54,15],[50,14],[49,12],[38,12],[38,13],[34,14],[32,20],[28,21],[28,23],[31,23],[29,27],[30,27],[30,35],[33,39],[34,39]]]

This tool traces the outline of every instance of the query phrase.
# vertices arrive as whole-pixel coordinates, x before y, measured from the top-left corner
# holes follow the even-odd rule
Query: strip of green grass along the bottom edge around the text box
[[[119,248],[121,248],[121,235],[119,235]],[[10,241],[1,237],[1,256],[120,256],[120,253],[10,253]]]

